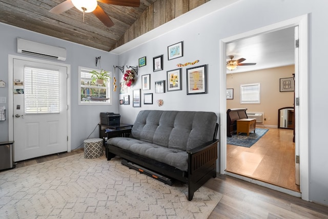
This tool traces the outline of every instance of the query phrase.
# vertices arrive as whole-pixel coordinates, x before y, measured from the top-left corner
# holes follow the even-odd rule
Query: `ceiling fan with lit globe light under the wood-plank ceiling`
[[[140,0],[66,0],[52,8],[50,12],[60,14],[75,7],[83,12],[83,21],[84,13],[92,12],[101,22],[103,22],[104,25],[107,27],[113,27],[114,23],[112,22],[111,18],[109,18],[106,12],[97,4],[97,2],[130,7],[139,7],[140,5]]]

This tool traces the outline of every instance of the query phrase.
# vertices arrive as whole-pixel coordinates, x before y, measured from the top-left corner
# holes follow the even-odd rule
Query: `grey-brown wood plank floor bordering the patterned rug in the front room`
[[[20,162],[16,168],[29,166],[60,157],[83,153],[83,148]],[[328,218],[328,207],[274,191],[237,178],[218,174],[204,186],[223,194],[209,216],[217,218]]]

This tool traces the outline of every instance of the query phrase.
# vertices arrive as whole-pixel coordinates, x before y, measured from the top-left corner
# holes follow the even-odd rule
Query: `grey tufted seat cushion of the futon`
[[[129,137],[109,138],[107,144],[115,145],[135,154],[168,164],[183,171],[188,171],[188,153],[186,151],[162,147]]]

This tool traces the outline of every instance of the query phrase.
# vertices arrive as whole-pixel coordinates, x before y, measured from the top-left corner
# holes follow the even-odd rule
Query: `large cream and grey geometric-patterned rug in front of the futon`
[[[83,153],[0,173],[1,218],[207,218],[221,197]]]

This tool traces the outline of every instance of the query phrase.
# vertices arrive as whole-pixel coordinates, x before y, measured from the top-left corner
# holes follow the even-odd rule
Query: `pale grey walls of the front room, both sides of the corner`
[[[199,7],[211,7],[219,0],[212,0]],[[198,10],[198,8],[196,8]],[[254,30],[263,26],[285,21],[303,14],[309,14],[309,158],[310,158],[310,200],[323,205],[328,205],[328,162],[326,155],[328,147],[325,141],[328,117],[325,111],[328,108],[328,97],[324,88],[328,81],[326,73],[326,54],[328,42],[326,36],[328,29],[325,23],[328,21],[328,2],[324,0],[240,0],[237,3],[223,8],[217,12],[208,14],[206,17],[197,19],[185,26],[179,27],[172,32],[149,41],[119,56],[104,51],[80,46],[53,37],[37,34],[31,31],[0,24],[0,79],[8,83],[8,54],[16,54],[16,37],[31,39],[40,43],[66,47],[68,58],[65,62],[71,65],[71,90],[72,90],[72,149],[78,147],[83,140],[92,132],[99,121],[99,112],[112,111],[121,114],[122,122],[133,123],[136,114],[143,109],[161,110],[203,110],[219,112],[219,41],[239,33]],[[182,15],[183,16],[183,15]],[[167,46],[174,43],[184,42],[184,55],[181,58],[168,61]],[[99,42],[101,43],[101,42]],[[152,72],[152,58],[164,55],[164,70]],[[129,88],[130,100],[132,90],[141,88],[140,78],[142,74],[151,74],[151,90],[141,93],[154,93],[154,104],[144,105],[141,108],[133,108],[130,105],[117,106],[118,99],[122,95],[113,95],[113,105],[109,107],[78,106],[77,104],[77,69],[78,66],[95,67],[95,57],[101,56],[101,67],[113,70],[113,65],[136,66],[138,58],[147,56],[147,65],[139,68],[136,85]],[[208,65],[208,94],[186,95],[186,68],[182,68],[182,90],[163,94],[155,94],[154,82],[166,80],[166,71],[176,69],[176,64],[193,62],[199,59],[198,65]],[[116,74],[118,71],[116,70]],[[121,73],[119,73],[121,81]],[[8,90],[0,88],[0,96],[8,97]],[[158,107],[156,99],[162,98],[164,105]],[[8,100],[7,100],[8,101]],[[143,97],[142,100],[143,101]],[[300,100],[301,101],[301,100]],[[2,106],[0,104],[0,106]],[[8,109],[8,104],[6,104]],[[8,112],[7,112],[8,118]],[[219,121],[219,120],[218,120]],[[97,130],[93,136],[97,136]],[[0,141],[8,140],[8,121],[0,122]],[[302,157],[300,158],[302,161]]]

